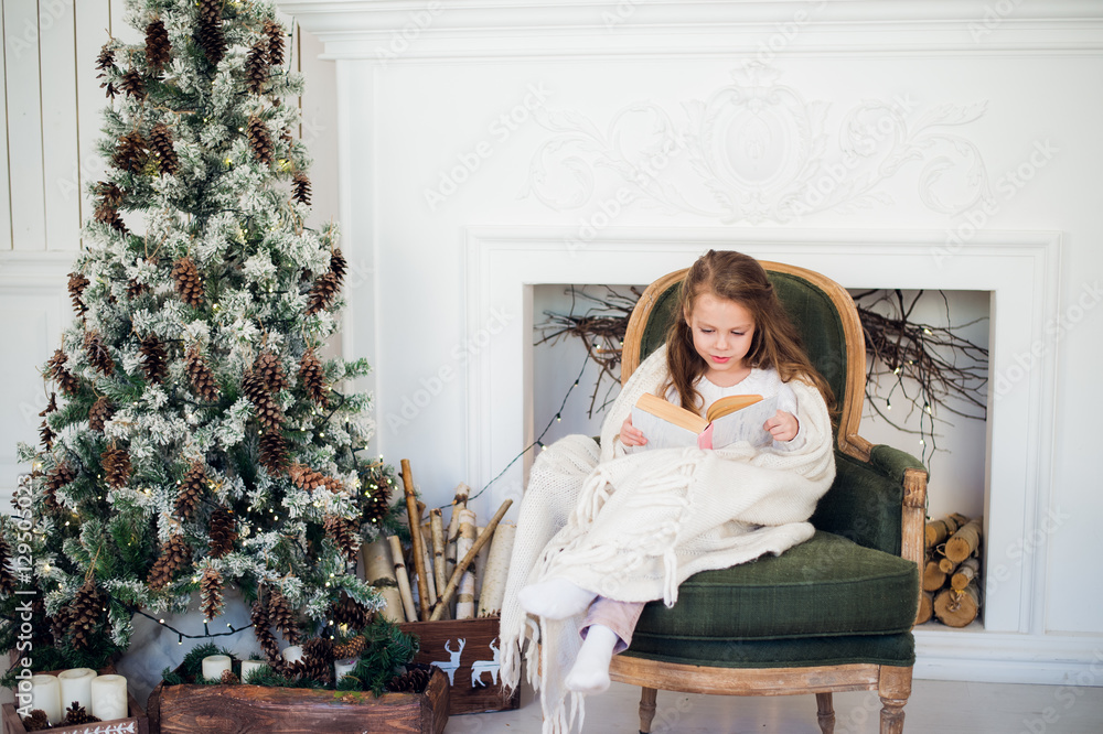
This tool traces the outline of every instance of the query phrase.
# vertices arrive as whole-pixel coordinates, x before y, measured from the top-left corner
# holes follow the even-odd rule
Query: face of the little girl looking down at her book
[[[705,371],[714,385],[731,387],[750,374],[746,364],[754,335],[751,312],[735,301],[702,293],[694,302],[693,313],[686,315],[693,333],[693,346],[708,369]]]

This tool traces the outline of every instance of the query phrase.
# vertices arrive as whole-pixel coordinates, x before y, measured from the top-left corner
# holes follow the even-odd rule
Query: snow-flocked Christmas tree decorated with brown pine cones
[[[321,354],[346,262],[332,228],[304,224],[283,101],[302,82],[269,2],[128,8],[146,41],[97,60],[109,166],[68,280],[76,317],[43,368],[41,445],[20,447],[33,473],[3,523],[0,649],[30,603],[35,668],[98,667],[135,614],[213,620],[234,586],[272,662],[277,635],[324,639],[325,657],[378,605],[355,559],[394,474],[357,456],[368,397],[341,390],[367,365]],[[334,620],[349,632],[331,640]]]

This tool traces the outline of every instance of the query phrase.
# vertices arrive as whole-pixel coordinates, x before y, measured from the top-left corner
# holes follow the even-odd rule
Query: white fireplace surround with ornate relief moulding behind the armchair
[[[716,247],[848,288],[985,291],[984,626],[919,630],[917,671],[1090,669],[1103,499],[1077,395],[1096,395],[1103,359],[1097,8],[279,4],[336,60],[344,247],[363,276],[343,347],[376,367],[378,447],[411,460],[429,504],[485,485],[542,428],[538,284],[647,283]]]

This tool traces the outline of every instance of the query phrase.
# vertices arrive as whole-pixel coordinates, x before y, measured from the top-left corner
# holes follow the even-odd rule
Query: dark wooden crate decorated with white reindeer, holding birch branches
[[[521,705],[520,688],[506,695],[499,679],[499,618],[407,622],[403,632],[417,635],[421,649],[414,662],[433,665],[451,684],[449,713],[505,711]]]

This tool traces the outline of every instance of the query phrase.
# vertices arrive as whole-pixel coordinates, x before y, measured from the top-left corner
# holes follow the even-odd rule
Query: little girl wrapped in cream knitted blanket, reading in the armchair
[[[502,674],[516,686],[525,637],[543,641],[538,680],[534,644],[527,657],[544,690],[545,732],[569,728],[577,694],[608,688],[611,656],[631,643],[646,602],[673,605],[694,573],[803,542],[834,478],[831,389],[758,261],[709,251],[687,271],[678,305],[665,347],[613,404],[600,453],[592,440],[567,436],[533,466],[503,607]],[[778,396],[763,424],[772,444],[643,451],[647,438],[631,419],[643,392],[702,414],[728,395]],[[567,666],[569,719],[559,681]]]

